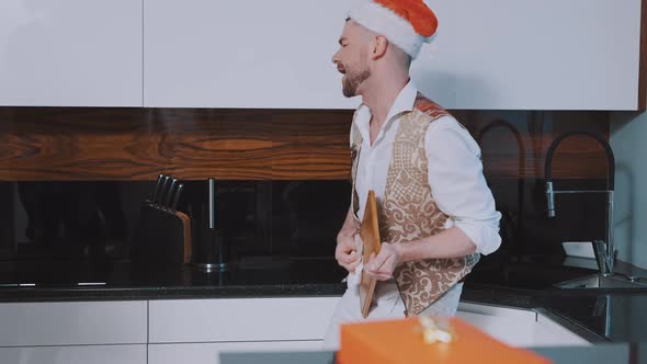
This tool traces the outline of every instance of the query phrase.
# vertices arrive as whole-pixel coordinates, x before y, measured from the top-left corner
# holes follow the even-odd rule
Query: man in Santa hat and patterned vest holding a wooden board
[[[363,320],[362,269],[378,280],[367,319],[452,316],[479,254],[501,243],[501,215],[478,145],[409,78],[411,60],[436,26],[422,0],[362,0],[350,10],[332,58],[343,94],[362,96],[362,104],[351,128],[353,202],[336,249],[349,287],[326,334],[329,349],[339,345],[340,323]],[[370,190],[383,244],[362,262],[356,237]]]

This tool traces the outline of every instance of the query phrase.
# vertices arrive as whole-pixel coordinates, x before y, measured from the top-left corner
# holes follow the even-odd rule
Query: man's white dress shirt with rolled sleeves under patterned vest
[[[393,156],[393,144],[401,116],[413,110],[418,90],[409,81],[400,91],[371,145],[371,111],[357,107],[354,123],[362,134],[355,190],[360,198],[357,217],[362,220],[368,190],[382,202],[386,177]],[[351,129],[351,144],[353,140]],[[480,148],[469,132],[453,116],[442,116],[430,124],[424,136],[429,162],[429,184],[439,208],[450,218],[445,228],[458,227],[476,246],[476,251],[489,254],[501,244],[495,198],[483,175]]]

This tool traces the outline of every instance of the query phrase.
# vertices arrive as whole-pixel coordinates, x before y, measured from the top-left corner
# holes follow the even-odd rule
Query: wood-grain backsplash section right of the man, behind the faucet
[[[493,178],[543,179],[546,152],[568,132],[590,132],[609,139],[606,112],[454,111],[481,147],[485,174]],[[492,126],[493,125],[493,126]],[[606,175],[602,146],[588,136],[565,139],[553,158],[557,179]]]

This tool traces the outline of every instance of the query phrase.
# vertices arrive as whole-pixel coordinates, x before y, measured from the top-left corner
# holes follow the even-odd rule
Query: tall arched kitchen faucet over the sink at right
[[[553,162],[553,155],[555,150],[559,146],[564,139],[574,136],[574,135],[587,135],[591,138],[598,140],[604,147],[604,152],[606,153],[606,162],[608,162],[608,187],[604,191],[558,191],[555,190],[553,186],[553,179],[552,179],[552,162]],[[609,143],[602,138],[598,134],[588,133],[588,132],[571,132],[565,133],[557,137],[550,144],[548,148],[548,152],[546,155],[546,200],[548,203],[548,217],[555,217],[555,194],[557,193],[604,193],[606,194],[606,241],[595,241],[594,242],[594,252],[595,258],[598,260],[598,266],[600,268],[600,273],[603,276],[611,276],[613,275],[613,269],[615,265],[615,257],[616,257],[616,249],[613,244],[613,189],[615,182],[615,158],[613,157],[613,150],[611,150],[611,146]]]

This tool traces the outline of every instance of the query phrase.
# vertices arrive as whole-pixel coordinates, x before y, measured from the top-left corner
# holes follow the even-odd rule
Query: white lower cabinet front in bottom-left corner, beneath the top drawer
[[[146,345],[0,348],[2,364],[146,364]]]

